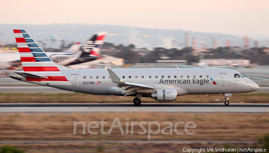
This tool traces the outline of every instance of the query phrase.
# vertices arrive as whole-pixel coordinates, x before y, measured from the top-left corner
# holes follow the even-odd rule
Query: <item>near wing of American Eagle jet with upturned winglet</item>
[[[107,68],[107,71],[111,77],[111,81],[114,83],[118,83],[117,87],[120,90],[125,90],[122,94],[126,93],[124,96],[128,96],[131,94],[135,94],[137,89],[156,89],[154,86],[148,86],[148,85],[141,85],[136,83],[129,83],[129,82],[123,82],[122,79],[120,79],[112,70],[111,68]]]

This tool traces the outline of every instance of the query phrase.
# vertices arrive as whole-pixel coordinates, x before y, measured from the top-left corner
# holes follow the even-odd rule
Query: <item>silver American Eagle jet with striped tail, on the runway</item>
[[[15,38],[32,39],[24,32],[14,30]],[[17,45],[24,71],[10,74],[11,78],[79,93],[134,96],[135,105],[141,104],[141,97],[172,102],[187,94],[224,94],[228,105],[232,93],[259,89],[244,75],[224,68],[73,70],[54,63],[35,42]]]

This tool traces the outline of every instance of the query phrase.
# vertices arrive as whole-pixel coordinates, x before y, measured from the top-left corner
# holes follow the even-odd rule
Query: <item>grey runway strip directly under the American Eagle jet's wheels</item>
[[[0,112],[248,112],[269,113],[269,104],[0,104]]]

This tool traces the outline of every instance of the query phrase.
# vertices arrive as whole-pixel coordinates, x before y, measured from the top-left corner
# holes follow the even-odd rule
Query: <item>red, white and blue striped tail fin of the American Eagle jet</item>
[[[13,30],[23,71],[60,71],[70,69],[54,63],[25,30]]]

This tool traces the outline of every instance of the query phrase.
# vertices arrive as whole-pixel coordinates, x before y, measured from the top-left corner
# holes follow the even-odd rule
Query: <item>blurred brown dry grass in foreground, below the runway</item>
[[[33,115],[25,113],[17,113],[16,115],[0,116],[0,140],[36,140],[36,143],[18,143],[12,144],[20,149],[27,149],[27,152],[183,152],[183,148],[222,148],[225,144],[215,142],[217,140],[238,141],[231,143],[229,148],[256,147],[262,148],[263,144],[259,143],[263,136],[269,133],[269,115],[249,115],[245,114],[168,114],[168,113],[149,113],[149,112],[126,112],[126,113],[93,113],[93,114],[70,114],[70,115]],[[120,132],[120,128],[113,128],[111,134],[101,134],[101,125],[99,122],[104,119],[104,132],[108,132],[114,119],[119,118],[124,134]],[[129,120],[126,120],[129,118]],[[82,124],[77,125],[76,134],[74,131],[74,122],[85,122],[86,126],[89,122],[95,121],[99,124],[99,128],[91,128],[91,132],[98,132],[96,135],[88,133],[87,127],[85,134],[83,133]],[[126,122],[129,122],[129,133],[126,134]],[[192,121],[196,124],[196,128],[189,128],[189,132],[195,132],[193,135],[184,132],[184,125],[177,126],[178,132],[184,132],[182,135],[175,133],[164,135],[159,132],[151,135],[150,140],[160,140],[159,143],[146,143],[148,140],[148,131],[146,134],[138,134],[143,129],[138,125],[134,125],[134,134],[130,134],[131,122],[147,123],[155,121],[160,123],[161,129],[169,126],[163,124],[165,121],[176,122],[182,121],[186,124]],[[94,124],[93,124],[94,125]],[[92,126],[93,126],[92,125]],[[117,123],[115,125],[118,125]],[[191,125],[190,125],[191,126]],[[148,125],[143,124],[148,130]],[[152,124],[151,130],[157,131],[158,127]],[[165,129],[164,132],[169,132]],[[123,143],[111,143],[106,141],[95,143],[44,143],[41,140],[127,140]],[[128,140],[142,140],[145,143],[134,143]],[[162,140],[210,140],[207,143],[167,143]],[[244,143],[243,141],[257,141],[256,143]],[[4,144],[0,144],[2,146]]]

